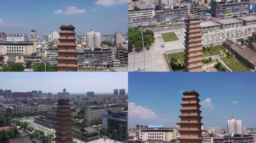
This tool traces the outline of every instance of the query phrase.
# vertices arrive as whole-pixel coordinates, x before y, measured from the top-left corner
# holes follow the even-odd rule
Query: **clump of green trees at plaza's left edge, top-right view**
[[[140,51],[143,49],[143,42],[144,47],[147,49],[150,45],[155,41],[154,33],[151,30],[146,30],[142,32],[143,41],[141,36],[141,31],[138,27],[135,28],[128,28],[128,44],[130,46],[135,47],[135,50]]]

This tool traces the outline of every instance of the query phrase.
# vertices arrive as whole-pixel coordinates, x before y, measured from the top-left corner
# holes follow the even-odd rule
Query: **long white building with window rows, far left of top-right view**
[[[152,19],[154,17],[154,9],[128,10],[128,21]]]

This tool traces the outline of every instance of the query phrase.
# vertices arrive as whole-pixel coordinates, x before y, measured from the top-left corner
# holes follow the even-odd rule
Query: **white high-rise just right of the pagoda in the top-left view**
[[[86,33],[86,40],[88,47],[95,47],[98,48],[101,46],[101,35],[100,32],[91,32]]]

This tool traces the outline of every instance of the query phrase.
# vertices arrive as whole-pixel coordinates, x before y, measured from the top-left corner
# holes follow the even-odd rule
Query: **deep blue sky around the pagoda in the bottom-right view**
[[[182,92],[196,90],[204,128],[226,128],[231,117],[256,128],[254,72],[129,72],[129,127],[180,122]]]

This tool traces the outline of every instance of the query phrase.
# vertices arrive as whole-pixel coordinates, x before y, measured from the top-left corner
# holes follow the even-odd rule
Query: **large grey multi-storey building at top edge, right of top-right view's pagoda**
[[[247,0],[211,0],[211,14],[216,17],[232,17],[249,12]]]

